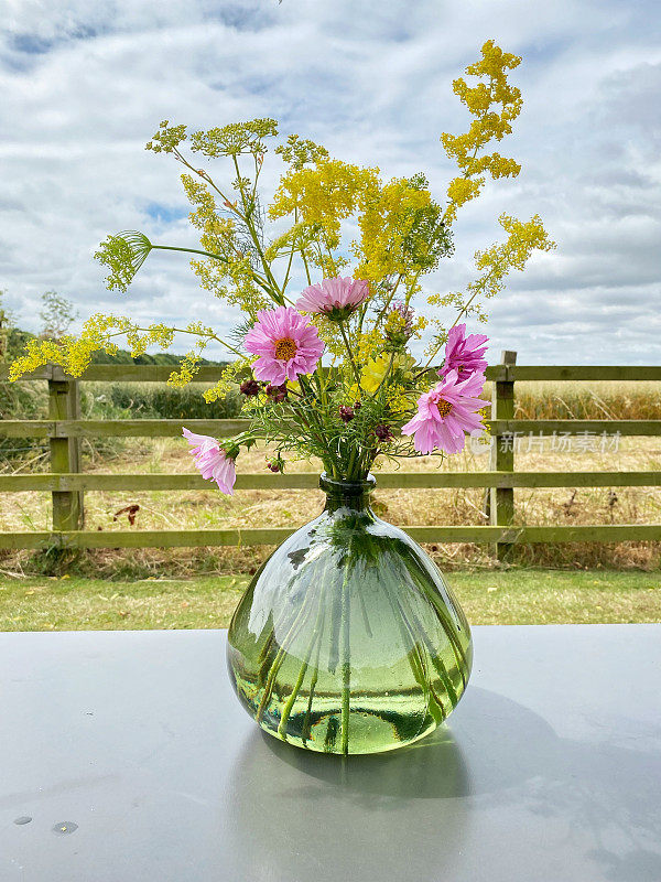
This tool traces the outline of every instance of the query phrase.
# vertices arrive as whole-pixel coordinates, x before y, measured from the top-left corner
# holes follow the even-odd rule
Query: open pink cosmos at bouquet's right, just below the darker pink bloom
[[[420,396],[418,413],[402,427],[402,434],[413,435],[413,447],[420,453],[436,449],[458,453],[466,443],[466,433],[481,428],[476,411],[487,404],[478,398],[484,385],[484,374],[459,379],[457,372],[451,370],[433,389]]]

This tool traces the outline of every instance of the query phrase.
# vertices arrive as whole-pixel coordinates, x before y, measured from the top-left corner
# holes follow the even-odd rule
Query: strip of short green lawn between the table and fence
[[[248,579],[3,579],[0,631],[226,626]],[[487,570],[448,581],[476,625],[661,621],[658,572]]]

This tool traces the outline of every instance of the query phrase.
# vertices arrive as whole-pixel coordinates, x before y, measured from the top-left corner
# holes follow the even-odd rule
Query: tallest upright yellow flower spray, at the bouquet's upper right
[[[520,63],[518,55],[503,52],[492,40],[488,40],[481,47],[481,58],[466,67],[466,74],[486,77],[487,82],[469,86],[463,77],[458,77],[452,84],[454,94],[475,119],[464,135],[445,132],[441,136],[445,152],[463,172],[463,175],[451,181],[447,189],[448,206],[444,219],[448,224],[455,219],[462,205],[479,194],[485,183],[485,172],[491,178],[516,178],[521,170],[513,159],[499,153],[478,155],[490,141],[500,141],[510,135],[511,123],[521,112],[521,92],[507,79],[507,72]],[[499,109],[496,109],[498,106]]]

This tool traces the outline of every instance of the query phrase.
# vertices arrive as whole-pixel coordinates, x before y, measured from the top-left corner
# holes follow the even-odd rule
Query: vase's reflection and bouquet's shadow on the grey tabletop
[[[413,879],[414,868],[421,879],[453,879],[485,818],[510,818],[540,854],[548,825],[561,825],[572,831],[567,860],[586,872],[651,882],[661,879],[661,755],[635,729],[621,740],[627,746],[560,738],[528,708],[478,687],[448,725],[373,756],[306,752],[256,729],[226,794],[232,832],[256,879]]]

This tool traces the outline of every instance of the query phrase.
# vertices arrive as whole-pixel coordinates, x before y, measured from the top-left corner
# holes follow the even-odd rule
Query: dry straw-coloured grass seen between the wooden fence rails
[[[648,418],[661,417],[659,384],[518,384],[517,409],[522,418]],[[530,448],[530,449],[529,449]],[[516,462],[521,471],[654,471],[661,469],[661,438],[622,438],[617,450],[602,452],[599,444],[584,450],[577,443],[571,451],[553,450],[552,439],[524,440]],[[264,469],[266,451],[241,454],[240,470]],[[192,464],[183,441],[159,439],[133,442],[113,459],[98,454],[88,461],[90,472],[191,472]],[[386,466],[390,469],[391,466]],[[438,467],[435,458],[420,458],[403,464],[407,471],[427,472]],[[483,471],[488,469],[486,453],[466,451],[452,458],[444,469]],[[315,462],[291,464],[291,471],[318,472]],[[378,474],[377,474],[378,477]],[[395,490],[376,494],[378,514],[393,524],[460,525],[484,524],[481,490]],[[241,491],[224,497],[217,491],[88,493],[87,528],[111,531],[127,529],[126,516],[113,520],[115,513],[138,504],[136,529],[230,528],[249,523],[254,527],[296,527],[319,510],[318,491]],[[560,490],[517,490],[516,518],[519,524],[658,524],[661,521],[661,490],[648,487],[608,487]],[[0,530],[48,529],[48,494],[7,494],[0,507]],[[437,562],[444,567],[491,567],[489,550],[477,546],[432,546]],[[57,567],[72,572],[107,579],[142,578],[167,574],[176,578],[193,573],[236,573],[253,571],[268,552],[266,548],[243,549],[158,549],[127,552],[95,551],[76,561],[58,560]],[[654,569],[660,555],[657,544],[559,545],[517,549],[517,561],[565,568],[614,567]],[[35,572],[52,562],[31,552],[14,552],[1,564],[6,570]]]

